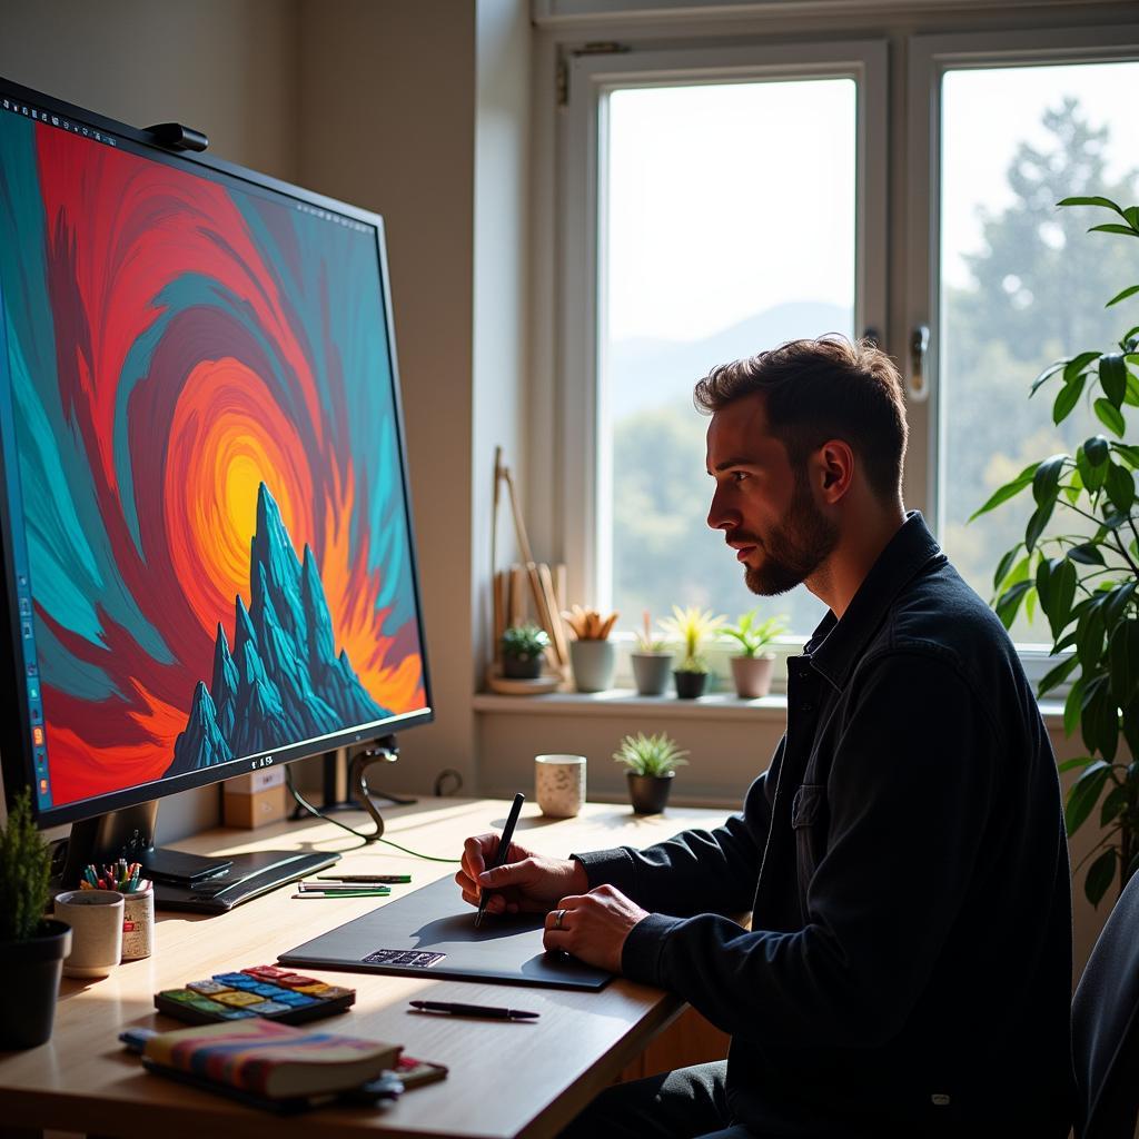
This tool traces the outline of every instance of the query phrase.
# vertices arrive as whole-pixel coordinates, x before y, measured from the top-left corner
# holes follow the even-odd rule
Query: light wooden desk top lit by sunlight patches
[[[505,802],[424,798],[384,812],[385,837],[411,850],[454,857],[467,835],[501,829]],[[670,809],[638,818],[625,805],[589,804],[576,819],[542,819],[527,803],[515,835],[541,853],[565,855],[622,844],[646,846],[687,827],[712,827],[727,812]],[[339,816],[363,825],[363,816]],[[214,830],[178,845],[202,854],[256,849],[345,851],[354,839],[318,820],[257,831]],[[372,844],[350,851],[346,872],[411,872],[412,885],[453,875]],[[393,887],[393,898],[401,890]],[[458,892],[458,887],[456,887]],[[126,1026],[173,1029],[153,994],[213,973],[271,962],[278,952],[359,917],[376,899],[294,901],[282,887],[219,917],[159,912],[156,948],[104,981],[64,978],[51,1041],[0,1054],[0,1131],[50,1129],[145,1139],[361,1139],[399,1137],[541,1137],[556,1134],[683,1008],[679,998],[621,978],[600,993],[333,974],[357,990],[351,1013],[320,1022],[331,1031],[390,1040],[411,1056],[446,1064],[442,1083],[416,1088],[379,1109],[323,1108],[280,1118],[142,1071],[122,1050]],[[379,901],[383,904],[383,901]],[[511,1003],[541,1013],[536,1024],[465,1021],[409,1014],[412,998]],[[503,1047],[506,1046],[506,1047]]]

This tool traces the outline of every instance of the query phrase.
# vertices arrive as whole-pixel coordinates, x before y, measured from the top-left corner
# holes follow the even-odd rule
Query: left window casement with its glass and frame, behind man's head
[[[645,609],[735,616],[759,600],[705,523],[707,424],[693,386],[761,346],[880,327],[865,236],[882,241],[883,62],[880,44],[847,44],[574,68],[596,221],[574,243],[567,343],[589,345],[571,368],[592,377],[596,402],[579,420],[592,461],[566,451],[591,507],[585,593],[625,628]],[[763,611],[797,632],[825,612],[802,588]]]

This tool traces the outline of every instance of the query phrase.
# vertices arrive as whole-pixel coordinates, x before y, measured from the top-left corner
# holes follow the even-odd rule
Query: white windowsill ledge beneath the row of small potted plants
[[[630,688],[612,688],[604,693],[547,693],[541,696],[499,696],[477,693],[474,710],[494,715],[590,715],[628,716],[652,712],[663,720],[785,720],[787,697],[764,696],[741,700],[731,693],[712,693],[695,700],[674,696],[638,696]],[[1046,700],[1040,714],[1049,729],[1064,723],[1064,705]]]

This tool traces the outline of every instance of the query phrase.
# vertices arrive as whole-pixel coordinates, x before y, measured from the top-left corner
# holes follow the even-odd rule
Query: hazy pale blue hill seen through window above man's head
[[[614,419],[623,419],[678,399],[687,403],[695,383],[718,363],[754,355],[801,336],[850,336],[850,320],[851,310],[842,305],[796,301],[767,309],[702,341],[618,341],[608,360],[611,413]]]

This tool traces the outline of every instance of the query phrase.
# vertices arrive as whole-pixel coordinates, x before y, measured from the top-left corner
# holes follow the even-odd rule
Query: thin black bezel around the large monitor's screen
[[[370,226],[375,230],[376,256],[380,274],[380,294],[383,297],[383,314],[387,331],[387,351],[391,372],[392,408],[395,420],[396,442],[400,456],[400,481],[403,492],[403,501],[407,506],[404,521],[408,526],[408,556],[411,567],[411,585],[416,603],[416,629],[419,638],[419,658],[423,666],[423,689],[425,706],[413,712],[382,721],[376,726],[360,726],[345,729],[333,736],[322,737],[318,740],[304,740],[289,744],[285,747],[274,748],[272,752],[263,752],[252,756],[235,759],[228,763],[218,764],[213,768],[205,768],[200,771],[188,771],[178,776],[162,777],[146,784],[138,784],[123,790],[108,792],[91,798],[80,800],[73,803],[62,804],[41,810],[38,804],[35,792],[35,757],[31,736],[32,721],[27,694],[26,678],[24,677],[21,662],[23,659],[22,638],[19,628],[19,603],[15,581],[15,564],[13,551],[13,518],[8,509],[7,493],[0,494],[0,558],[3,563],[3,613],[0,620],[3,621],[7,636],[3,641],[5,652],[0,654],[0,682],[15,689],[18,708],[17,716],[5,716],[0,722],[0,769],[2,769],[3,787],[8,802],[13,795],[22,787],[32,789],[32,811],[36,823],[40,827],[55,827],[81,819],[92,818],[109,811],[122,808],[134,806],[147,803],[151,800],[165,798],[180,792],[191,790],[197,787],[207,787],[221,782],[235,776],[259,771],[271,765],[292,763],[296,760],[309,759],[322,755],[339,747],[363,744],[369,740],[380,739],[394,732],[403,731],[407,728],[424,723],[431,723],[435,719],[435,706],[432,699],[431,670],[427,663],[427,639],[424,631],[423,614],[423,591],[419,583],[419,559],[416,543],[416,531],[413,525],[413,508],[411,500],[411,484],[408,473],[407,435],[403,425],[403,399],[400,388],[400,370],[395,346],[395,326],[392,314],[392,289],[387,267],[387,248],[385,240],[384,219],[380,214],[363,210],[359,206],[350,205],[336,198],[313,190],[304,189],[292,182],[274,178],[270,174],[262,174],[257,171],[240,166],[237,163],[228,162],[214,155],[192,153],[186,150],[174,150],[161,146],[154,137],[146,130],[130,126],[126,123],[117,122],[105,115],[88,110],[84,107],[57,99],[54,96],[44,95],[31,88],[23,87],[0,76],[0,98],[17,99],[21,103],[33,104],[35,109],[47,110],[49,114],[63,118],[74,120],[81,124],[98,130],[101,133],[114,136],[118,142],[129,144],[122,149],[141,154],[144,157],[164,163],[174,169],[185,170],[198,177],[206,177],[211,181],[235,183],[245,190],[271,191],[270,197],[293,198],[308,206],[326,210],[330,213],[352,219]],[[10,112],[0,112],[10,113]],[[190,125],[190,124],[188,124]],[[207,171],[202,175],[202,170]],[[211,177],[218,175],[218,177]],[[0,281],[0,290],[2,290]],[[0,294],[2,295],[2,294]],[[7,357],[7,331],[3,321],[0,321],[0,351]],[[3,363],[7,367],[7,362]],[[7,457],[0,449],[0,477],[3,477],[3,485],[7,485],[6,472]],[[50,739],[48,740],[50,755]]]

